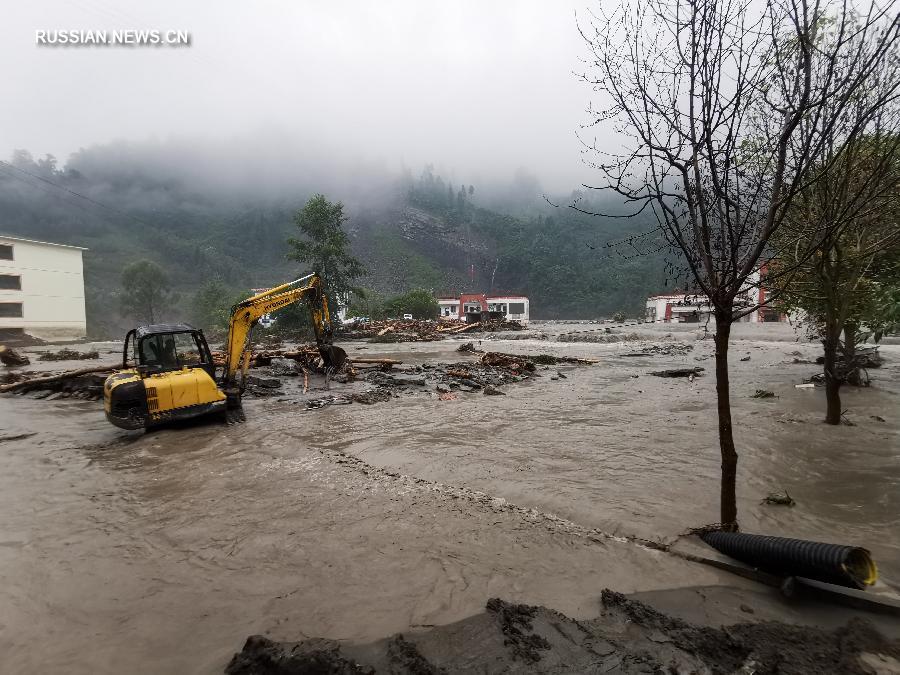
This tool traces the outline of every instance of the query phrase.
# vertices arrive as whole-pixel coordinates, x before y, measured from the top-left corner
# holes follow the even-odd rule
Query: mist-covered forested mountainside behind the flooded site
[[[533,318],[593,318],[637,313],[664,281],[659,254],[603,246],[647,230],[646,219],[554,207],[526,174],[476,185],[444,180],[432,167],[413,175],[312,159],[266,166],[246,152],[172,143],[96,146],[62,167],[17,151],[0,164],[0,232],[89,249],[95,336],[130,324],[116,294],[135,260],[169,274],[181,297],[171,320],[190,318],[188,298],[210,279],[238,292],[304,271],[287,260],[286,239],[296,234],[292,215],[316,192],[347,206],[353,251],[369,271],[363,285],[382,293],[514,292],[531,297]],[[582,199],[579,208],[615,207]]]

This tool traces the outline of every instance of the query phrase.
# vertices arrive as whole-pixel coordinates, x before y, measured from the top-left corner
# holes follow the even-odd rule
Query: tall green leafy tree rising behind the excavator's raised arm
[[[350,254],[350,239],[343,228],[346,220],[341,202],[329,202],[317,194],[294,215],[304,238],[288,239],[288,258],[310,266],[309,271],[322,277],[333,314],[338,305],[350,301],[357,290],[356,280],[366,273],[363,264]]]

